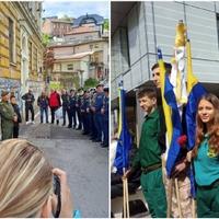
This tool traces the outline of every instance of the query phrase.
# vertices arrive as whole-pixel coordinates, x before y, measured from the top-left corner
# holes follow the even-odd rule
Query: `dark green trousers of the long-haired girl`
[[[219,218],[219,185],[203,189],[197,187],[198,218]]]

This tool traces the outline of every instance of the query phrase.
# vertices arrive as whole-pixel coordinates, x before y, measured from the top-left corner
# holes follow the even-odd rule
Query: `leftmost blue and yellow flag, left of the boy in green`
[[[131,136],[128,131],[126,119],[126,92],[124,89],[119,90],[119,129],[118,129],[118,143],[116,149],[116,157],[114,160],[114,166],[117,169],[117,173],[123,174],[123,169],[129,166],[129,150],[131,148]]]

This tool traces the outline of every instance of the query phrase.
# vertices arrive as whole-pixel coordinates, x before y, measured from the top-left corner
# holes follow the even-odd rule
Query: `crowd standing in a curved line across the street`
[[[22,123],[19,105],[14,95],[8,91],[1,92],[0,114],[2,140],[19,137],[19,124]],[[34,124],[35,96],[30,89],[22,96],[25,102],[26,125]],[[49,95],[42,91],[37,97],[41,123],[49,123],[48,112],[50,108],[50,123],[82,130],[82,135],[89,135],[94,142],[100,142],[101,147],[108,147],[108,88],[97,84],[95,89],[62,89],[59,93],[50,90]],[[30,119],[31,113],[31,119]],[[68,122],[68,124],[67,124]]]

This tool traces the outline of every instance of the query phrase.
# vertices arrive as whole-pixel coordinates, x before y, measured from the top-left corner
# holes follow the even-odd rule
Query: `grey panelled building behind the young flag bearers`
[[[137,124],[132,127],[137,135],[142,114],[136,101],[136,90],[151,84],[150,69],[158,60],[158,46],[162,49],[164,61],[171,61],[178,20],[187,26],[195,76],[209,92],[218,95],[218,2],[112,2],[112,116],[115,118],[117,87],[123,79],[128,92],[127,110],[135,114],[129,123]]]

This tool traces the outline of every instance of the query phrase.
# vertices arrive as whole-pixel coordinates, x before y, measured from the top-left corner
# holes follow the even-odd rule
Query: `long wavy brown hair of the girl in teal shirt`
[[[208,145],[214,150],[214,152],[219,154],[219,100],[216,95],[211,93],[203,95],[198,102],[198,105],[201,100],[206,100],[214,105],[215,116],[212,117],[212,120],[210,122],[211,126],[210,126],[210,129],[208,130],[208,135],[209,135]],[[206,131],[207,131],[206,124],[201,122],[197,113],[196,114],[196,142],[193,149],[194,158],[197,155],[198,148],[204,139]]]

